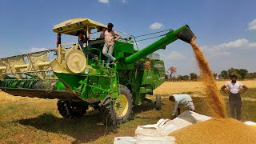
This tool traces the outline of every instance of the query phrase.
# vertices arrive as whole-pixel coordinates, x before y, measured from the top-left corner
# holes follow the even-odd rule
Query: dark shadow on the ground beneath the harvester
[[[116,126],[106,128],[102,124],[101,115],[96,111],[75,119],[58,118],[53,114],[42,114],[37,118],[22,119],[18,122],[46,132],[67,134],[76,139],[73,143],[94,142],[105,134],[116,133]]]

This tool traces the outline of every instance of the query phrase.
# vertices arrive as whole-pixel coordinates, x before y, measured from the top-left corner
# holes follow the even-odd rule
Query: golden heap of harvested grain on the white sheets
[[[231,118],[214,118],[170,134],[177,143],[256,143],[256,129]]]

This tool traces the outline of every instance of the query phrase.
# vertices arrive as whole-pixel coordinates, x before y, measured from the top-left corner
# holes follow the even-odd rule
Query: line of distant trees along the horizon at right
[[[177,75],[174,74],[177,73],[177,67],[170,66],[168,70],[166,71],[166,81],[196,81],[198,80],[199,76],[195,73],[190,73],[188,75]],[[236,75],[238,79],[255,79],[256,78],[256,72],[249,73],[246,69],[235,69],[230,68],[228,70],[222,70],[220,74],[213,73],[213,76],[215,79],[230,79],[231,75]]]

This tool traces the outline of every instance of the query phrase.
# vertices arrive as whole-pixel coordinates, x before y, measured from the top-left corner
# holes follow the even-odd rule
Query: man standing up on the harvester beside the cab
[[[106,66],[110,65],[110,61],[115,61],[116,59],[112,56],[114,51],[114,42],[117,42],[119,38],[121,38],[121,35],[118,34],[113,29],[113,24],[109,23],[107,25],[107,29],[102,30],[101,38],[105,38],[105,44],[102,49],[102,54],[104,54],[107,57],[106,60]],[[117,38],[115,38],[117,36]]]

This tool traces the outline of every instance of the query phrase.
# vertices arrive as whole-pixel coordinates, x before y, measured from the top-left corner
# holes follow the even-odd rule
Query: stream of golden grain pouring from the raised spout
[[[206,91],[207,96],[206,105],[210,110],[210,116],[214,118],[226,118],[225,102],[218,91],[214,75],[210,70],[210,66],[194,40],[192,40],[190,44],[194,50],[194,56],[198,62],[200,78],[202,78],[202,82],[204,83],[204,90]]]

